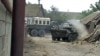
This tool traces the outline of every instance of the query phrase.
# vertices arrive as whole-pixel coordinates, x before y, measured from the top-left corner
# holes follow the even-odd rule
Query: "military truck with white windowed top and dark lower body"
[[[26,24],[30,36],[43,37],[50,30],[50,18],[26,17]]]

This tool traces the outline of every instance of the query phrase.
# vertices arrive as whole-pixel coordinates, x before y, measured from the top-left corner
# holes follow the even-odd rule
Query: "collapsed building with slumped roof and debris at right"
[[[100,11],[94,12],[81,20],[89,32],[87,42],[96,42],[100,39]]]

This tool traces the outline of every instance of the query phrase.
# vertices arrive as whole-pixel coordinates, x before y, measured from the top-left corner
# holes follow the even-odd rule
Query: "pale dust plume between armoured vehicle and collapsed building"
[[[77,30],[79,37],[79,40],[83,40],[88,35],[88,31],[86,30],[85,26],[80,22],[80,20],[68,20],[70,24],[73,25],[73,27]]]

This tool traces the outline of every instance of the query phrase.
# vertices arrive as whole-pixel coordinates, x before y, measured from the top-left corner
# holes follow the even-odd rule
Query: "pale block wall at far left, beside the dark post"
[[[10,56],[12,18],[0,1],[0,56]]]

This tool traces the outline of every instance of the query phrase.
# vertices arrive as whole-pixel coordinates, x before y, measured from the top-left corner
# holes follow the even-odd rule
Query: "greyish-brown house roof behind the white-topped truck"
[[[42,4],[26,4],[25,16],[44,16]]]

